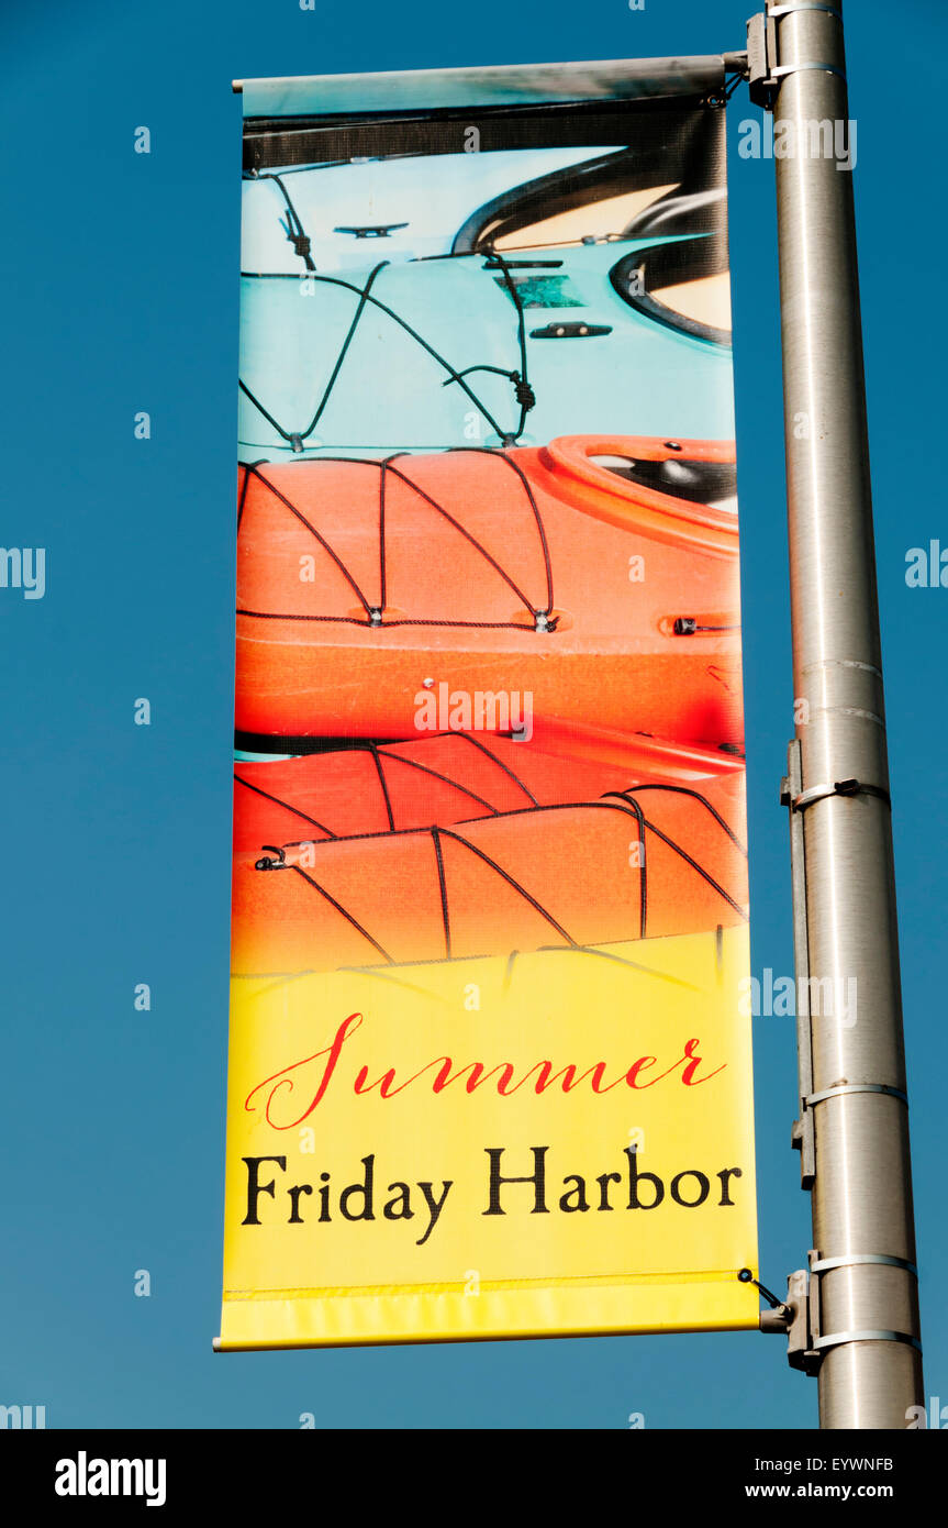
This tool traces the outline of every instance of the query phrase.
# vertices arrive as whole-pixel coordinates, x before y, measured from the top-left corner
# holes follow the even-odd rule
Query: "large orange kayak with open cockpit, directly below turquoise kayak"
[[[502,733],[528,697],[540,727],[737,746],[733,461],[586,435],[241,468],[238,730]]]

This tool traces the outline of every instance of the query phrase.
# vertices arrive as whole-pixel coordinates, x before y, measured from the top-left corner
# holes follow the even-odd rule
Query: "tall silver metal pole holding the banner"
[[[924,1394],[911,1345],[919,1311],[852,174],[811,138],[812,124],[849,124],[841,0],[768,0],[768,17],[779,63],[795,810],[812,1033],[812,1080],[801,1057],[800,1088],[815,1132],[820,1426],[904,1429]],[[792,124],[794,151],[777,157],[782,122]],[[855,1261],[866,1254],[879,1261]]]

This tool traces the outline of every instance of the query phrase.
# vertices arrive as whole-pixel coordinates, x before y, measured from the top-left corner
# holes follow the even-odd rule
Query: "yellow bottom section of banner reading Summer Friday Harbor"
[[[746,931],[240,978],[215,1346],[754,1328]]]

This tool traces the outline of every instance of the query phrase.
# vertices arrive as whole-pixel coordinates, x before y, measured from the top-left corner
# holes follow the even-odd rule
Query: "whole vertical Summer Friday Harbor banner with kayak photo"
[[[722,81],[241,87],[218,1348],[757,1325]]]

